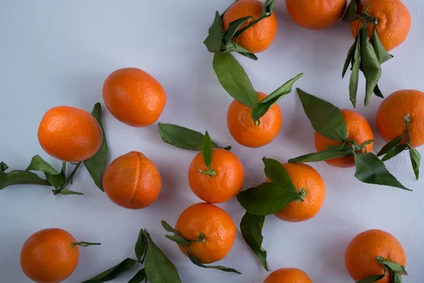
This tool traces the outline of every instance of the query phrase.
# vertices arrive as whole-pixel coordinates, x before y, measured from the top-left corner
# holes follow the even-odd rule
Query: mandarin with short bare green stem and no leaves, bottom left
[[[34,233],[23,244],[20,266],[28,278],[37,283],[59,283],[68,278],[78,265],[79,250],[73,236],[57,228]]]

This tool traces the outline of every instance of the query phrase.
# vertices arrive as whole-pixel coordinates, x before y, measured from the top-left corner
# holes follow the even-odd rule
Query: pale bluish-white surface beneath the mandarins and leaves
[[[279,103],[283,129],[269,145],[248,149],[235,143],[226,127],[232,98],[218,83],[211,53],[203,45],[216,10],[232,0],[193,1],[0,1],[0,159],[12,169],[24,169],[35,154],[59,168],[37,141],[42,115],[57,105],[91,110],[102,102],[106,76],[122,67],[139,67],[155,76],[167,92],[160,122],[172,122],[204,132],[225,146],[233,146],[245,166],[244,188],[264,181],[261,158],[280,161],[314,151],[313,131],[293,92]],[[391,53],[379,83],[385,95],[403,88],[424,91],[424,3],[405,0],[412,28],[404,45]],[[259,54],[259,61],[239,61],[259,91],[271,93],[282,83],[305,72],[296,83],[305,91],[326,98],[341,108],[351,108],[348,79],[341,69],[353,38],[347,23],[322,31],[295,25],[283,0],[275,7],[278,34],[273,45]],[[359,100],[365,81],[361,77]],[[358,111],[375,132],[375,151],[384,142],[375,126],[381,100],[372,98]],[[240,270],[233,275],[192,265],[175,243],[165,239],[160,220],[174,225],[177,216],[199,199],[189,189],[187,169],[195,152],[163,144],[157,123],[133,128],[118,122],[103,108],[110,161],[128,151],[151,158],[163,178],[159,200],[151,207],[129,210],[110,202],[95,187],[85,168],[74,178],[71,190],[84,196],[54,197],[49,187],[20,185],[0,192],[0,282],[29,282],[20,270],[20,248],[28,236],[47,227],[66,229],[79,241],[99,241],[102,246],[81,248],[76,271],[66,282],[81,282],[134,258],[134,243],[141,227],[175,263],[184,283],[255,282],[266,277],[259,261],[240,234],[230,254],[218,262]],[[420,150],[424,154],[423,150]],[[353,177],[354,168],[339,169],[315,163],[327,193],[321,212],[300,224],[266,217],[264,248],[271,270],[298,267],[315,283],[348,283],[344,250],[357,233],[383,229],[393,233],[407,254],[410,276],[404,282],[424,280],[423,180],[413,178],[408,154],[387,163],[406,192],[391,187],[365,185]],[[221,204],[238,229],[243,209],[236,200]],[[136,268],[113,282],[128,282]]]

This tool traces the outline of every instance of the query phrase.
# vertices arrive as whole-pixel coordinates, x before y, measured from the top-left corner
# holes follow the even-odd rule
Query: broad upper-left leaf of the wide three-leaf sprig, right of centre
[[[321,98],[297,89],[303,110],[315,131],[334,141],[343,141],[347,137],[346,122],[340,109]]]

